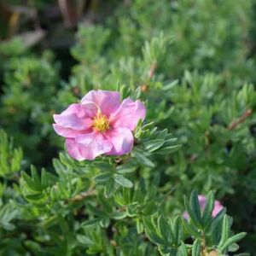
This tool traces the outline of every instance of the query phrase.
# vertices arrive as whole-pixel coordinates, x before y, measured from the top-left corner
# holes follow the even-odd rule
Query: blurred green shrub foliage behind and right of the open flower
[[[253,1],[121,5],[108,21],[79,26],[71,52],[80,63],[70,84],[79,96],[117,83],[140,86],[148,119],[183,145],[170,157],[154,156],[163,190],[175,183],[164,211],[177,212],[193,188],[213,189],[236,229],[246,224],[246,247],[256,253],[252,10]]]

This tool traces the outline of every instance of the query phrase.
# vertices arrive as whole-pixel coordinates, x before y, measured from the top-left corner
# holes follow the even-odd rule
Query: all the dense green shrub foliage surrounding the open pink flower
[[[114,3],[66,80],[53,50],[0,43],[0,255],[254,255],[255,4]],[[79,162],[55,134],[94,89],[145,103],[131,154]]]

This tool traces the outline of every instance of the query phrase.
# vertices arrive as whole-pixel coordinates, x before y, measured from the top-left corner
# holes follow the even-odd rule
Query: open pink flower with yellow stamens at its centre
[[[79,103],[54,114],[55,132],[66,137],[67,152],[75,160],[94,160],[100,154],[131,152],[132,132],[145,119],[142,102],[120,102],[117,91],[90,90]]]

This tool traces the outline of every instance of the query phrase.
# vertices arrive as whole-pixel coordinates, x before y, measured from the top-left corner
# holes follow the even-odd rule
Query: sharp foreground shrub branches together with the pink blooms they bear
[[[138,90],[126,94],[131,97],[122,90],[92,90],[54,115],[53,128],[67,147],[53,161],[54,173],[39,174],[34,166],[30,175],[17,172],[20,149],[9,147],[1,131],[1,157],[15,163],[0,172],[2,255],[200,256],[238,250],[236,242],[246,233],[230,230],[232,218],[212,192],[184,196],[181,214],[163,210],[172,187],[161,187],[154,157],[180,145],[166,129],[148,123]]]

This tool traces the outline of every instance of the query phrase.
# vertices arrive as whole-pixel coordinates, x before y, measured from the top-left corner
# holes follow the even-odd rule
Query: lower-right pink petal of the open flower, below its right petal
[[[121,155],[131,152],[133,146],[133,136],[127,128],[114,128],[106,131],[104,134],[108,141],[112,143],[113,148],[107,154]]]

